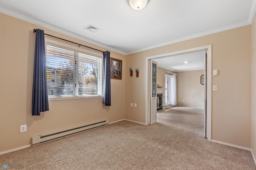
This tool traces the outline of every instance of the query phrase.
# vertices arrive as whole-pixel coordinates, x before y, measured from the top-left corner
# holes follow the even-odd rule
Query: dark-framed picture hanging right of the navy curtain
[[[110,78],[122,80],[122,60],[110,57]]]

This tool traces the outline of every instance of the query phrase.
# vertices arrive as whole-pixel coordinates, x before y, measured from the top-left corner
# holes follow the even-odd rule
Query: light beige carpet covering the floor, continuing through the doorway
[[[3,154],[0,166],[26,170],[256,170],[250,151],[202,137],[200,111],[176,112],[172,107],[159,113],[154,125],[122,121]]]

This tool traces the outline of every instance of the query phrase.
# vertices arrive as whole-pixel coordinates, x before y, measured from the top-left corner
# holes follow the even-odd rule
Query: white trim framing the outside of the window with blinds
[[[98,57],[102,59],[102,75],[101,75],[101,95],[72,95],[72,96],[48,96],[48,100],[49,101],[56,101],[56,100],[72,100],[72,99],[94,99],[94,98],[103,98],[103,82],[104,82],[104,65],[103,65],[103,54],[102,53],[96,53],[94,51],[89,51],[86,49],[81,49],[80,47],[76,47],[76,46],[72,46],[72,45],[68,45],[66,43],[61,43],[58,41],[53,41],[50,39],[45,38],[45,51],[46,51],[46,47],[47,45],[52,45],[54,47],[59,47],[59,48],[63,48],[63,49],[67,49],[67,50],[71,50],[71,51],[75,51],[78,53],[83,53],[86,55],[91,55],[93,57]]]

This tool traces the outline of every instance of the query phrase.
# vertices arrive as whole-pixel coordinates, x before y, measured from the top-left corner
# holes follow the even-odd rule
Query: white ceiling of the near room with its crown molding
[[[251,24],[255,1],[150,0],[134,10],[127,0],[0,0],[0,12],[127,55]]]

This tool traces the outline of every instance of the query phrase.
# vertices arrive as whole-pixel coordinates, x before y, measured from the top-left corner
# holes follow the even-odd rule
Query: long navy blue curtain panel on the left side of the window
[[[36,47],[32,92],[32,116],[40,116],[40,112],[45,111],[49,111],[49,102],[46,75],[44,30],[36,29]]]

